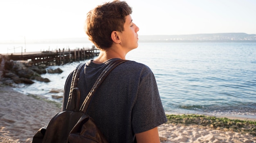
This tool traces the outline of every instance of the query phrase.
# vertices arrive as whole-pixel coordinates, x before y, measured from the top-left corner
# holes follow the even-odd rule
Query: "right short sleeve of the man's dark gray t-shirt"
[[[141,72],[137,100],[132,109],[133,132],[145,132],[166,121],[155,76],[149,67],[145,67]]]

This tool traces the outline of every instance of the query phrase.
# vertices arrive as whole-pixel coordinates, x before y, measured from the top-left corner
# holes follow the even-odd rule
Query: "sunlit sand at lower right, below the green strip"
[[[238,132],[211,130],[196,126],[159,126],[162,143],[256,143],[256,137]]]

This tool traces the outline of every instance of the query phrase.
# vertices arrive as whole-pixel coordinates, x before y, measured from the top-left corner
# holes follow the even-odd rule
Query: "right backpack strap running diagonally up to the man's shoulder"
[[[103,82],[103,80],[108,76],[108,74],[115,68],[117,67],[117,65],[121,64],[121,63],[124,63],[128,60],[122,60],[122,59],[119,59],[117,61],[113,61],[112,63],[110,63],[104,70],[103,72],[100,74],[100,76],[97,78],[96,82],[94,83],[92,89],[90,90],[90,92],[88,93],[88,95],[86,96],[81,108],[80,108],[80,111],[85,113],[89,104],[90,104],[90,101],[92,99],[92,95],[94,94],[94,92],[97,90],[97,88],[99,87],[99,85]]]

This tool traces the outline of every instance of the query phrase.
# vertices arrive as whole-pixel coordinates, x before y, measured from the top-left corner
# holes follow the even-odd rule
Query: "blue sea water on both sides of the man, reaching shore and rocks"
[[[153,71],[166,113],[230,115],[256,119],[256,43],[139,43],[127,59]],[[86,62],[79,61],[79,62]],[[18,91],[51,100],[79,62],[61,66],[61,74],[43,74],[51,82],[18,85]],[[61,102],[61,100],[56,100]]]

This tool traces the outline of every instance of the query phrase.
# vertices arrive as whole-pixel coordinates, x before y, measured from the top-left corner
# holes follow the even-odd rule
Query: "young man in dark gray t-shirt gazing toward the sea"
[[[125,59],[138,47],[139,28],[131,13],[131,7],[121,1],[108,2],[88,13],[85,32],[101,52],[79,75],[80,106],[106,64]],[[71,77],[65,84],[63,110]],[[111,143],[132,143],[134,135],[137,143],[160,143],[157,126],[167,121],[154,74],[135,61],[126,61],[110,72],[94,93],[87,114]]]

